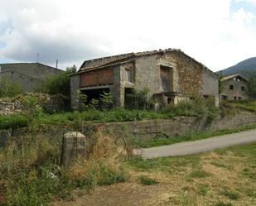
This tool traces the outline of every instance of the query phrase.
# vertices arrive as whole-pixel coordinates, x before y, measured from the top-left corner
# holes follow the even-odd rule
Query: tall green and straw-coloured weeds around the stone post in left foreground
[[[48,205],[53,199],[70,199],[74,189],[90,191],[95,185],[124,182],[128,173],[119,163],[114,141],[98,133],[88,160],[78,160],[69,168],[60,165],[61,138],[22,137],[9,140],[0,151],[0,184],[5,204]],[[104,144],[104,145],[103,145]]]

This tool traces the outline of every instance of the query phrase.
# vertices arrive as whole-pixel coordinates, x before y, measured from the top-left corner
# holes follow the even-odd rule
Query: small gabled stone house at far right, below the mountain
[[[220,101],[244,100],[247,95],[247,79],[241,74],[232,74],[221,79],[223,91],[220,93]]]

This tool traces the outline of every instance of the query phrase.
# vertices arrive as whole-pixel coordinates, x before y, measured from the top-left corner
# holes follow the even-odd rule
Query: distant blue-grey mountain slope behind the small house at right
[[[251,72],[256,72],[256,57],[241,61],[237,65],[230,66],[229,68],[220,71],[222,71],[224,76],[239,73],[245,77],[249,77]],[[218,73],[220,73],[220,71],[218,71]]]

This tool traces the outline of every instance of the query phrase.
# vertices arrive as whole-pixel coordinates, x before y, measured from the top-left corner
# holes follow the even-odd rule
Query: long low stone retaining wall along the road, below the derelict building
[[[175,117],[173,119],[144,120],[138,122],[111,122],[95,123],[84,126],[87,128],[101,128],[118,137],[127,135],[145,138],[163,134],[167,137],[176,137],[186,132],[216,131],[226,128],[238,127],[256,123],[256,114],[249,112],[237,113],[234,116],[220,117],[215,122],[208,123],[205,118],[199,117]]]

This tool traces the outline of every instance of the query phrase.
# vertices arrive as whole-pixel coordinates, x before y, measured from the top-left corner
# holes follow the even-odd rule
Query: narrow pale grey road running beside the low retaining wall
[[[210,137],[205,140],[184,141],[170,146],[156,146],[136,151],[142,158],[151,159],[162,156],[186,156],[211,151],[226,146],[256,142],[256,129],[224,136]]]

